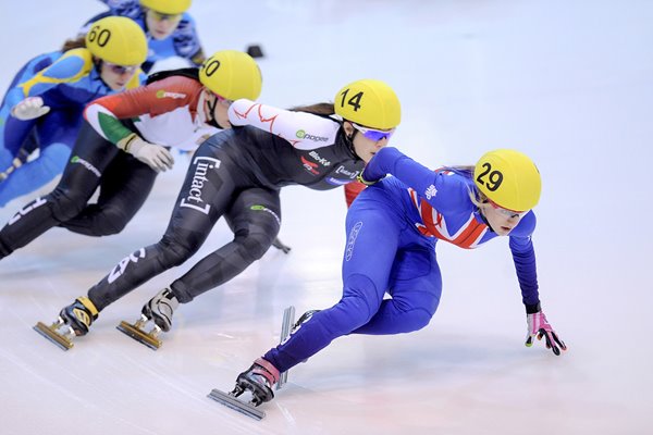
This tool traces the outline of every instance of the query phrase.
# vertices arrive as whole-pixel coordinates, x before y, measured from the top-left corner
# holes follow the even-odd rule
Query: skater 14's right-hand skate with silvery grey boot
[[[118,331],[125,333],[136,341],[157,350],[162,345],[158,336],[161,331],[170,331],[172,326],[172,313],[178,306],[180,301],[172,290],[170,290],[170,288],[164,288],[143,306],[139,320],[133,324],[122,321],[120,322],[120,325],[116,326]],[[145,331],[145,325],[148,322],[155,324],[149,332]]]

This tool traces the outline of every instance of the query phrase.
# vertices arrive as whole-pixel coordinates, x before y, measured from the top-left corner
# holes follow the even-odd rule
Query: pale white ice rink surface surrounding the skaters
[[[2,1],[0,86],[58,49],[93,0]],[[653,2],[643,0],[196,0],[208,52],[260,44],[260,100],[331,100],[386,80],[403,103],[392,145],[435,167],[517,148],[538,163],[542,306],[569,345],[526,348],[507,240],[439,244],[440,309],[414,334],[349,336],[289,373],[260,422],[206,396],[279,340],[283,308],[341,296],[343,192],[282,192],[281,238],[229,284],[181,307],[152,351],[115,330],[231,235],[219,223],[187,264],[101,312],[67,352],[37,321],[162,235],[185,173],[177,157],[126,229],[54,228],[0,262],[2,434],[650,434],[653,285]],[[0,209],[5,222],[28,198]]]

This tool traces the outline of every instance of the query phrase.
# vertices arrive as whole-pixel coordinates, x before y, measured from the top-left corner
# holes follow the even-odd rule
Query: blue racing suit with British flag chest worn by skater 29
[[[476,248],[497,237],[470,199],[476,187],[468,171],[433,172],[394,148],[383,149],[369,165],[390,169],[394,177],[362,190],[347,213],[343,297],[263,356],[280,372],[343,335],[401,334],[424,327],[442,291],[436,241]],[[509,233],[527,308],[539,304],[534,227],[530,211]],[[385,294],[390,298],[384,299]]]

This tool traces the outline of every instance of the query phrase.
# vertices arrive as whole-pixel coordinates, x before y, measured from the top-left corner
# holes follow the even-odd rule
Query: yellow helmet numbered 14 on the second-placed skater
[[[337,91],[335,113],[366,127],[391,129],[402,121],[402,104],[396,94],[381,80],[364,79]]]

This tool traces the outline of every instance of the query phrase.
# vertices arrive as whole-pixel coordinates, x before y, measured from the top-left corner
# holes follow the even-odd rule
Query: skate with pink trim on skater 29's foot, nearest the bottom
[[[266,413],[257,407],[274,398],[272,386],[279,381],[279,370],[269,361],[258,358],[254,364],[236,378],[236,386],[226,394],[219,389],[209,393],[209,397],[225,407],[232,408],[252,419],[261,420]],[[249,402],[237,399],[245,391],[251,393]]]

